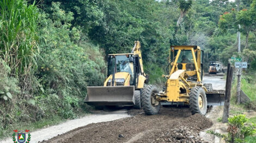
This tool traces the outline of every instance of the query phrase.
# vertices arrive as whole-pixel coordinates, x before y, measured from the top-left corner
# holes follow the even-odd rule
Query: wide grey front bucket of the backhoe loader
[[[134,86],[87,87],[84,102],[94,106],[129,106],[135,105]]]

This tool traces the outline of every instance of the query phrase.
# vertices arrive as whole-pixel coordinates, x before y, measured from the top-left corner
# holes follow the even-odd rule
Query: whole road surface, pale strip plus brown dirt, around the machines
[[[225,86],[222,78],[210,75],[203,81],[220,90]],[[191,115],[188,107],[161,107],[159,114],[151,116],[143,110],[125,112],[97,111],[83,119],[40,129],[32,132],[31,142],[206,142],[199,133],[212,126],[205,116]]]

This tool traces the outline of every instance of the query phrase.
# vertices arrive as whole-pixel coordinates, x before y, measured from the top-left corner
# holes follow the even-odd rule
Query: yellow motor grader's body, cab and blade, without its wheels
[[[202,61],[203,52],[199,46],[171,46],[169,75],[163,75],[167,78],[166,90],[158,94],[157,101],[189,103],[191,88],[200,86],[206,97],[209,95],[208,105],[221,103],[224,94],[209,93],[202,83]]]

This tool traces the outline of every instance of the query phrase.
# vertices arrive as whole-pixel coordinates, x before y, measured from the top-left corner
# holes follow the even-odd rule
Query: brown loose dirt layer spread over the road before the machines
[[[90,124],[43,142],[205,142],[199,132],[212,122],[188,108],[161,108],[157,115],[133,110],[131,118]]]

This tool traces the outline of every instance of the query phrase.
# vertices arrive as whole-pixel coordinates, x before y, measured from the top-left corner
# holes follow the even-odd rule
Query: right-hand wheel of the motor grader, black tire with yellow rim
[[[207,99],[202,87],[193,87],[190,91],[190,109],[191,113],[206,114],[207,110]]]

